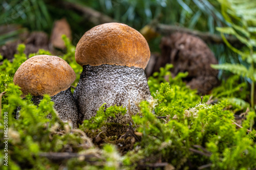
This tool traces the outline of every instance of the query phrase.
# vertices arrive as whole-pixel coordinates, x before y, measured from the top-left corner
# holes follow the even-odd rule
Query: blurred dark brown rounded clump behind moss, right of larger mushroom
[[[184,81],[198,93],[207,94],[218,85],[218,70],[210,64],[218,64],[214,54],[206,43],[196,36],[174,33],[163,37],[161,41],[162,59],[158,65],[172,63],[173,76],[179,72],[188,72]]]

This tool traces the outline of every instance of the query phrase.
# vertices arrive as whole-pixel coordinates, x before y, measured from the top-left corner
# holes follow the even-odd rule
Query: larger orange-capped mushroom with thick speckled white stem
[[[150,59],[145,38],[122,23],[104,23],[87,31],[76,46],[75,59],[83,67],[74,91],[82,120],[96,115],[97,109],[125,106],[124,116],[109,118],[108,123],[126,125],[139,112],[139,103],[150,100],[144,69]],[[125,132],[126,127],[111,127]]]

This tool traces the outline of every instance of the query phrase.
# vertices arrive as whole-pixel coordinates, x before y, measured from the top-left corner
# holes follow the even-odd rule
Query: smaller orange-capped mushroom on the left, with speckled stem
[[[75,71],[65,60],[56,56],[39,55],[20,65],[13,82],[21,88],[24,95],[30,93],[33,96],[35,105],[40,103],[44,94],[49,94],[59,118],[71,120],[73,127],[77,128],[77,104],[70,90],[75,79]]]

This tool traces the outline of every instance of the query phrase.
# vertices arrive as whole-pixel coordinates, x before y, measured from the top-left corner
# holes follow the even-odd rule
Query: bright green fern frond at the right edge
[[[256,53],[253,51],[253,47],[256,46],[256,21],[255,13],[249,13],[255,6],[254,1],[233,1],[233,0],[219,0],[221,4],[222,15],[225,20],[229,23],[229,27],[220,28],[217,30],[221,32],[221,36],[226,45],[235,53],[239,54],[243,60],[248,63],[248,66],[242,64],[220,64],[212,65],[213,68],[223,69],[232,72],[233,74],[246,77],[250,79],[251,90],[250,90],[250,104],[254,109],[254,83],[256,81],[256,72],[254,64],[256,63]],[[245,47],[243,50],[238,50],[232,46],[224,34],[231,34],[238,38]]]

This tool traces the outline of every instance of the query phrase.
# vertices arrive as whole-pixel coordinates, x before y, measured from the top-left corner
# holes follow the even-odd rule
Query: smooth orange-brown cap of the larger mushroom
[[[84,33],[75,58],[81,66],[109,64],[145,69],[150,47],[135,29],[123,23],[104,23]]]

